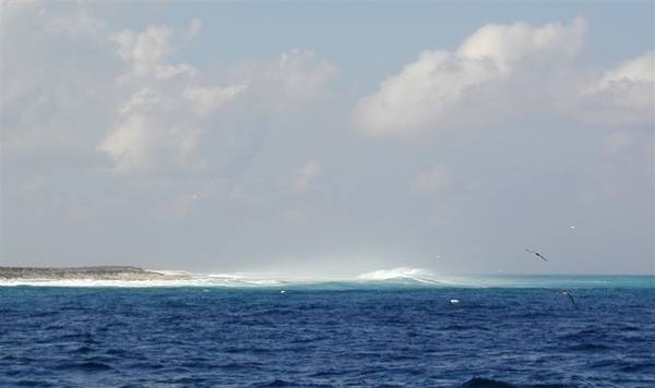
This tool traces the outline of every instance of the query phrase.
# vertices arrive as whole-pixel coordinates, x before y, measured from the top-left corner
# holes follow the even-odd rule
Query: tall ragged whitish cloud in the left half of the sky
[[[192,156],[206,120],[246,89],[245,85],[198,86],[194,68],[164,63],[174,50],[172,39],[174,31],[166,26],[114,35],[118,54],[131,64],[128,73],[118,77],[119,85],[132,90],[97,146],[111,159],[115,172],[193,167]],[[176,80],[177,75],[186,76]],[[126,77],[131,78],[129,83],[123,82]]]

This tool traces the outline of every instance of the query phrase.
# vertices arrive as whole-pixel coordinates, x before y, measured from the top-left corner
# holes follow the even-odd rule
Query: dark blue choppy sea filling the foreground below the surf
[[[572,293],[0,287],[0,386],[655,387],[655,289]]]

